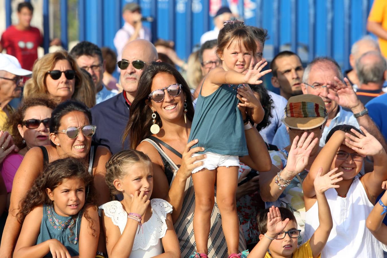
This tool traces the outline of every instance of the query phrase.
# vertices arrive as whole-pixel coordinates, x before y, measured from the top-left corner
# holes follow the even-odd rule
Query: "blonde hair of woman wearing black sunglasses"
[[[71,68],[75,71],[75,89],[72,98],[77,96],[77,92],[83,83],[81,72],[74,58],[68,55],[66,51],[59,50],[46,54],[35,61],[32,69],[32,77],[24,85],[24,97],[35,97],[40,94],[47,94],[47,72],[52,70],[59,60],[67,60]]]

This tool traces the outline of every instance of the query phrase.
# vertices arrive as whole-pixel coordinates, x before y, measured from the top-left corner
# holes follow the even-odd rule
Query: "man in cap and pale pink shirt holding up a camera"
[[[122,58],[123,47],[135,39],[146,39],[151,41],[151,31],[142,26],[141,7],[137,3],[128,3],[122,9],[122,18],[125,24],[119,29],[114,37],[114,46],[117,50],[117,61]]]

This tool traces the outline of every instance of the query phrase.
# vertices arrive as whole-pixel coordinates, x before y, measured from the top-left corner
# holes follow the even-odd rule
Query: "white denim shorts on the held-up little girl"
[[[205,159],[194,162],[195,164],[196,162],[203,161],[204,164],[192,170],[192,174],[200,171],[203,168],[206,168],[208,170],[214,170],[217,167],[239,166],[238,156],[221,155],[221,154],[216,154],[214,152],[205,152],[204,154],[195,153],[192,155],[192,157],[199,156],[199,155],[207,155],[207,157]]]

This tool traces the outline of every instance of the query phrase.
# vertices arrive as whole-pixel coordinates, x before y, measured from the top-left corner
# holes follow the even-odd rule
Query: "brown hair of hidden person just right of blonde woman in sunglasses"
[[[80,71],[83,77],[82,84],[77,94],[73,95],[73,98],[83,102],[88,108],[92,108],[96,105],[96,87],[90,73],[82,68],[80,68]]]

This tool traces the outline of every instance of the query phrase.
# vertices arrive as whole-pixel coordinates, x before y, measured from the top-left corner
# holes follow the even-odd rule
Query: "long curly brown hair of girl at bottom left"
[[[33,210],[33,208],[42,204],[53,205],[54,201],[50,200],[46,193],[46,189],[48,188],[53,191],[60,184],[62,184],[64,180],[72,178],[79,178],[85,183],[86,200],[79,212],[83,213],[83,216],[86,218],[89,227],[93,230],[94,236],[95,230],[92,227],[93,222],[86,210],[87,205],[96,206],[93,176],[87,172],[84,162],[73,157],[57,159],[56,161],[48,164],[43,173],[41,173],[38,178],[35,179],[34,185],[21,201],[19,206],[20,210],[16,215],[17,220],[22,224],[26,216]],[[75,219],[77,216],[78,214],[75,214],[72,216],[72,218]],[[71,227],[70,232],[73,233]]]

